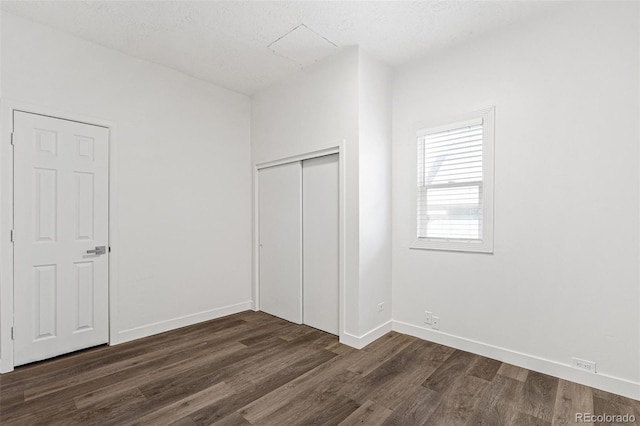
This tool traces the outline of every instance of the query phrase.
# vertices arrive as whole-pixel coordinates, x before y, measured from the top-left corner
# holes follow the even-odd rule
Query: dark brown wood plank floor
[[[358,351],[250,311],[0,376],[2,425],[564,425],[582,412],[640,419],[640,402],[395,332]]]

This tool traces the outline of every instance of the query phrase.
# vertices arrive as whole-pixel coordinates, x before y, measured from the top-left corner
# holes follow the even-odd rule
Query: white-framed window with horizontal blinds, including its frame
[[[493,108],[416,138],[412,248],[493,252]]]

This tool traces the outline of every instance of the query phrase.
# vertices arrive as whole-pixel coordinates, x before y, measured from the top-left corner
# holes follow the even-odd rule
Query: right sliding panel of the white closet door
[[[338,155],[302,163],[303,322],[338,334]]]

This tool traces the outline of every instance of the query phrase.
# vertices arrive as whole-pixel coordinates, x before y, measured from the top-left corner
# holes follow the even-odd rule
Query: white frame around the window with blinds
[[[410,249],[446,250],[463,252],[493,253],[493,181],[494,181],[494,115],[495,107],[485,108],[464,114],[449,120],[434,123],[421,123],[416,126],[412,143],[414,153],[414,179],[418,181],[418,141],[427,134],[463,127],[469,122],[482,120],[482,236],[479,240],[460,240],[444,238],[418,238],[418,194],[415,186],[412,191],[412,233]]]

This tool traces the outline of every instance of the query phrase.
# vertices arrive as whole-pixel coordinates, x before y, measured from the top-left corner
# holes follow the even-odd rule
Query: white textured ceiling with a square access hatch
[[[396,66],[557,7],[545,1],[2,1],[4,11],[248,95],[348,46]]]

